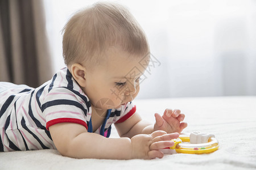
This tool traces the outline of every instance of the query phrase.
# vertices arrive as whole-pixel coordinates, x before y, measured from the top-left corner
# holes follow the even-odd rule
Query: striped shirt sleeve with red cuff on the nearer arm
[[[85,126],[88,108],[81,97],[67,88],[53,88],[42,103],[42,113],[46,117],[46,129],[49,126],[71,122]]]

